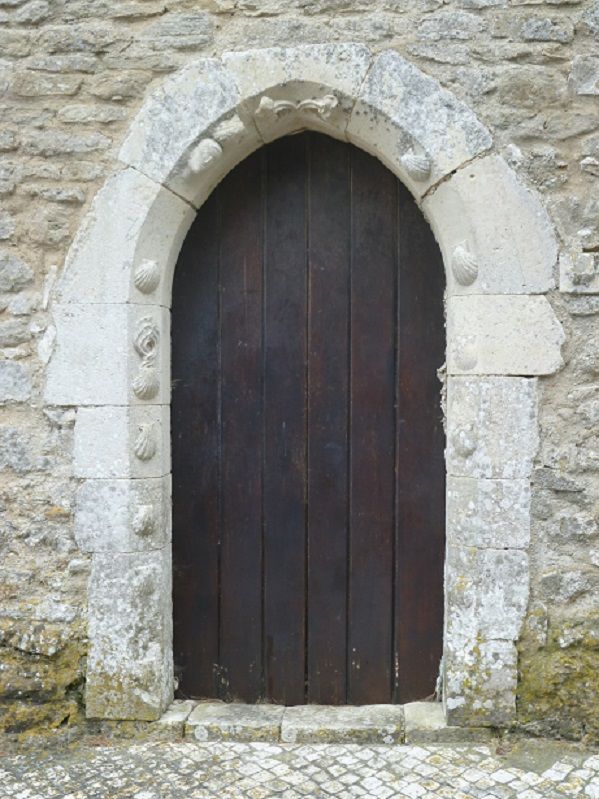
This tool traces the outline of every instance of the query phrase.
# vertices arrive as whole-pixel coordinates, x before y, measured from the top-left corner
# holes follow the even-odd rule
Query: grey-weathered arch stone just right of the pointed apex
[[[375,58],[347,135],[417,197],[491,146],[489,131],[467,106],[391,50]]]

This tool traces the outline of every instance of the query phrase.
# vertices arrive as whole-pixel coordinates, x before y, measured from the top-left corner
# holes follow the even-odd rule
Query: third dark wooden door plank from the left
[[[267,152],[264,645],[268,697],[305,701],[306,137]]]

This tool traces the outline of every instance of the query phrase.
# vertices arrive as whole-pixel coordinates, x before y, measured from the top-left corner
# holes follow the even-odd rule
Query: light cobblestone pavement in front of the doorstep
[[[2,799],[599,799],[599,756],[572,747],[135,743],[0,759]]]

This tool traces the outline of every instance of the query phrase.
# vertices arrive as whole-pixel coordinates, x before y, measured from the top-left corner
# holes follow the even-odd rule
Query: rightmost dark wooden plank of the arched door
[[[395,701],[434,692],[442,654],[445,437],[437,369],[445,360],[441,253],[404,187],[399,195],[399,406]]]

